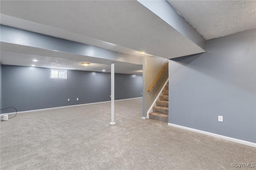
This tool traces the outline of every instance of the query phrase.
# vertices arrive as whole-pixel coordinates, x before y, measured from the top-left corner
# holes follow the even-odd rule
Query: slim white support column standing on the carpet
[[[115,64],[111,64],[111,125],[115,123]]]

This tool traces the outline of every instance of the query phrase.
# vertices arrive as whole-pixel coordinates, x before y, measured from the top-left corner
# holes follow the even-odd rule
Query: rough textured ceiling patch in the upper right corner
[[[256,28],[255,0],[168,0],[206,40]]]

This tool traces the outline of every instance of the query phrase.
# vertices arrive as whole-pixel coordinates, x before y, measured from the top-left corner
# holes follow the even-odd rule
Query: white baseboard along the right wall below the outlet
[[[236,143],[240,143],[240,144],[246,144],[248,146],[256,147],[256,143],[253,143],[253,142],[248,142],[248,141],[240,140],[240,139],[236,139],[236,138],[230,138],[228,136],[222,136],[220,134],[206,132],[206,131],[202,131],[202,130],[198,130],[198,129],[194,129],[194,128],[183,127],[183,126],[175,125],[175,124],[172,124],[172,123],[168,123],[168,125],[171,126],[171,127],[182,128],[182,129],[185,129],[185,130],[190,130],[190,131],[193,131],[193,132],[206,134],[206,135],[213,136],[213,137],[216,137],[216,138],[221,138],[221,139],[229,140],[229,141],[232,141],[232,142],[236,142]]]

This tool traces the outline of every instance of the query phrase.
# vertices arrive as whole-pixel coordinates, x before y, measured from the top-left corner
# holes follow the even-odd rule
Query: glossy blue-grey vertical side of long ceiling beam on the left
[[[134,55],[118,53],[115,51],[95,47],[93,45],[72,42],[69,40],[46,36],[43,34],[29,32],[4,25],[0,25],[0,34],[0,41],[4,43],[25,45],[29,47],[36,47],[52,51],[60,51],[84,57],[87,56],[90,58],[94,57],[99,59],[105,59],[108,61],[121,61],[139,65],[142,64],[141,57],[136,57]],[[1,47],[1,50],[8,51],[4,49],[4,46]]]

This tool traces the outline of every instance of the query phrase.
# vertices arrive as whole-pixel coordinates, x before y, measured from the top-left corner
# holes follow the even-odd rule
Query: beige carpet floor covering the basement
[[[1,121],[1,170],[218,170],[256,163],[251,146],[143,120],[142,99],[115,106],[116,125],[109,124],[110,103]]]

